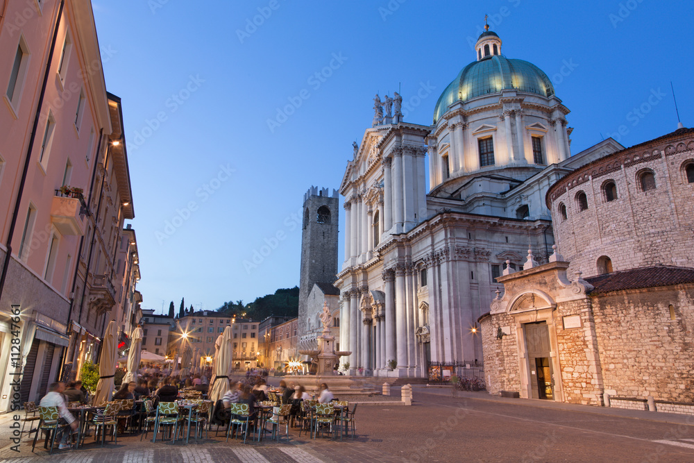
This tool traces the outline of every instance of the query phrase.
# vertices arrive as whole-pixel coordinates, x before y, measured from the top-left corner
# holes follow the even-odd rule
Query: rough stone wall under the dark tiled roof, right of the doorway
[[[694,403],[694,287],[591,297],[604,389]],[[675,319],[670,318],[672,305]]]

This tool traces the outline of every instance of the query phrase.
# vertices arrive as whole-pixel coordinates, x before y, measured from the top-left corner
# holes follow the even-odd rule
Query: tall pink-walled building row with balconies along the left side
[[[111,267],[134,212],[120,99],[106,92],[89,0],[0,2],[0,92],[3,411],[13,405],[12,378],[19,401],[38,401],[64,376],[71,340],[91,329],[98,342],[101,323],[122,310],[113,281],[123,278]],[[112,303],[94,310],[103,290]],[[89,328],[76,314],[91,318]]]

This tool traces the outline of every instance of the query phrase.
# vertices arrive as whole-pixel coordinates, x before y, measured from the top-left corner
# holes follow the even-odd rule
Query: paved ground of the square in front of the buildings
[[[484,392],[415,387],[412,407],[359,405],[357,438],[310,439],[290,430],[290,440],[243,444],[221,435],[171,444],[119,437],[104,448],[87,438],[78,451],[42,443],[31,453],[0,449],[1,462],[685,462],[694,460],[694,417],[505,399]],[[0,421],[4,431],[6,422]],[[149,434],[151,437],[151,433]],[[3,437],[3,444],[6,443]]]

